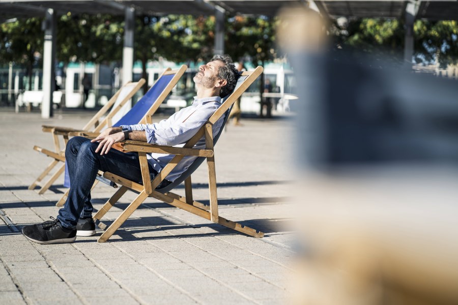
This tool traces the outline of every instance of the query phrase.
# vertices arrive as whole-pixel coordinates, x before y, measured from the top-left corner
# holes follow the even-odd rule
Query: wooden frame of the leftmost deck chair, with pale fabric
[[[137,82],[127,82],[124,84],[115,95],[111,97],[111,99],[89,120],[88,124],[86,124],[82,129],[74,129],[68,127],[61,127],[61,126],[51,126],[51,125],[42,125],[43,132],[49,132],[52,135],[52,139],[54,142],[54,151],[42,148],[40,146],[35,145],[34,150],[38,151],[39,153],[44,154],[52,158],[52,162],[43,170],[43,172],[35,179],[34,182],[28,187],[29,190],[34,190],[37,186],[40,186],[40,190],[38,194],[43,194],[49,187],[54,183],[54,181],[59,178],[59,176],[64,172],[65,165],[60,166],[52,175],[51,177],[41,184],[43,178],[45,178],[51,170],[58,165],[60,162],[65,162],[65,149],[61,148],[60,136],[62,136],[64,147],[67,145],[69,140],[69,134],[75,131],[90,131],[91,128],[94,128],[94,131],[101,130],[104,127],[111,126],[111,118],[115,115],[126,103],[129,101],[138,89],[145,83],[145,79],[141,78]],[[118,101],[123,90],[131,89],[130,92],[120,101],[120,103],[116,107],[112,107]],[[110,108],[112,108],[110,110]],[[106,117],[102,118],[104,115]]]

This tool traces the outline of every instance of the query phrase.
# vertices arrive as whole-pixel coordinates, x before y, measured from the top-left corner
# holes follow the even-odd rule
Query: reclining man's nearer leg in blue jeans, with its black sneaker
[[[98,143],[89,139],[74,137],[66,148],[70,176],[70,192],[57,219],[42,224],[24,226],[22,233],[28,239],[48,244],[73,242],[76,238],[78,219],[92,212],[91,187],[98,170],[110,171],[133,181],[141,181],[141,170],[136,153],[121,153],[111,149],[100,156],[95,153]]]

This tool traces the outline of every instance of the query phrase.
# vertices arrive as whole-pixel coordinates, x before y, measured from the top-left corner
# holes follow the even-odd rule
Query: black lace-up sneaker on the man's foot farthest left
[[[50,217],[51,220],[42,224],[24,226],[22,234],[28,239],[48,245],[49,243],[69,243],[76,239],[76,229],[67,229],[59,220]]]

